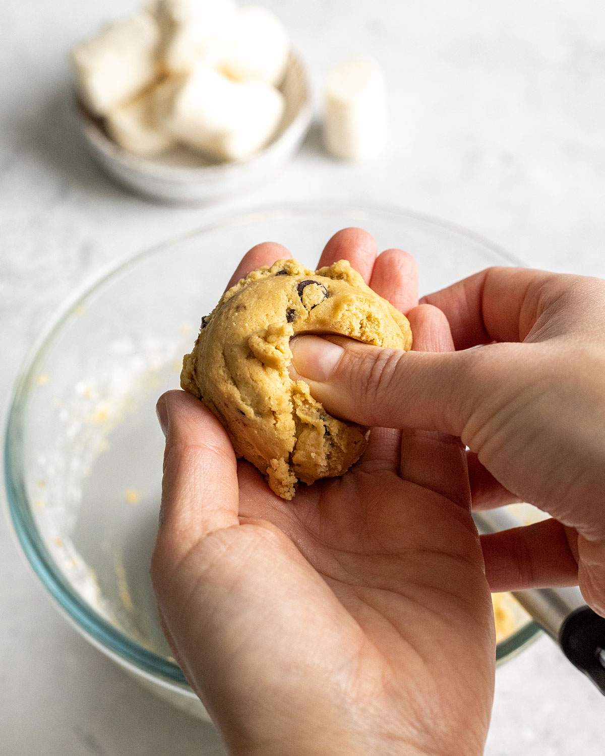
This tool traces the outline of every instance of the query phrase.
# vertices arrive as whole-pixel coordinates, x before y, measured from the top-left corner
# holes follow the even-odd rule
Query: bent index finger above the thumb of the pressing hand
[[[573,276],[530,268],[486,268],[423,296],[448,318],[456,349],[492,341],[523,341],[540,314]],[[565,284],[565,285],[566,285]]]

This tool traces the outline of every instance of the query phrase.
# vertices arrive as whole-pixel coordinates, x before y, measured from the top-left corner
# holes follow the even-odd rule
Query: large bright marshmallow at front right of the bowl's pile
[[[163,127],[216,160],[244,160],[275,134],[284,96],[264,82],[234,82],[198,65],[158,107]]]

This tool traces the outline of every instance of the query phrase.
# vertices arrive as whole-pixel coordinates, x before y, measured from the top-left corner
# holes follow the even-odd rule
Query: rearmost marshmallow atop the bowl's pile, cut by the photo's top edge
[[[203,60],[216,66],[236,21],[234,0],[159,0],[154,8],[163,34],[162,62],[172,73]]]

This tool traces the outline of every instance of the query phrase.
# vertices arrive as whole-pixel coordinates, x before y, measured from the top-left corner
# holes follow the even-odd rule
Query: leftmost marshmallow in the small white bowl
[[[157,76],[159,44],[157,21],[141,11],[73,49],[79,90],[92,113],[104,116],[150,85]]]

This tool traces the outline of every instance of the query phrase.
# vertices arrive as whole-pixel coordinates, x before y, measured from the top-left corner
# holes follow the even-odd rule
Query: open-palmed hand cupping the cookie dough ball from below
[[[262,244],[234,280],[288,252]],[[414,262],[347,258],[408,311],[417,349],[453,349],[442,313],[417,307]],[[492,705],[489,586],[470,516],[464,448],[436,433],[374,429],[358,465],[292,502],[236,463],[218,420],[169,392],[163,516],[152,577],[166,636],[237,754],[481,754]]]

